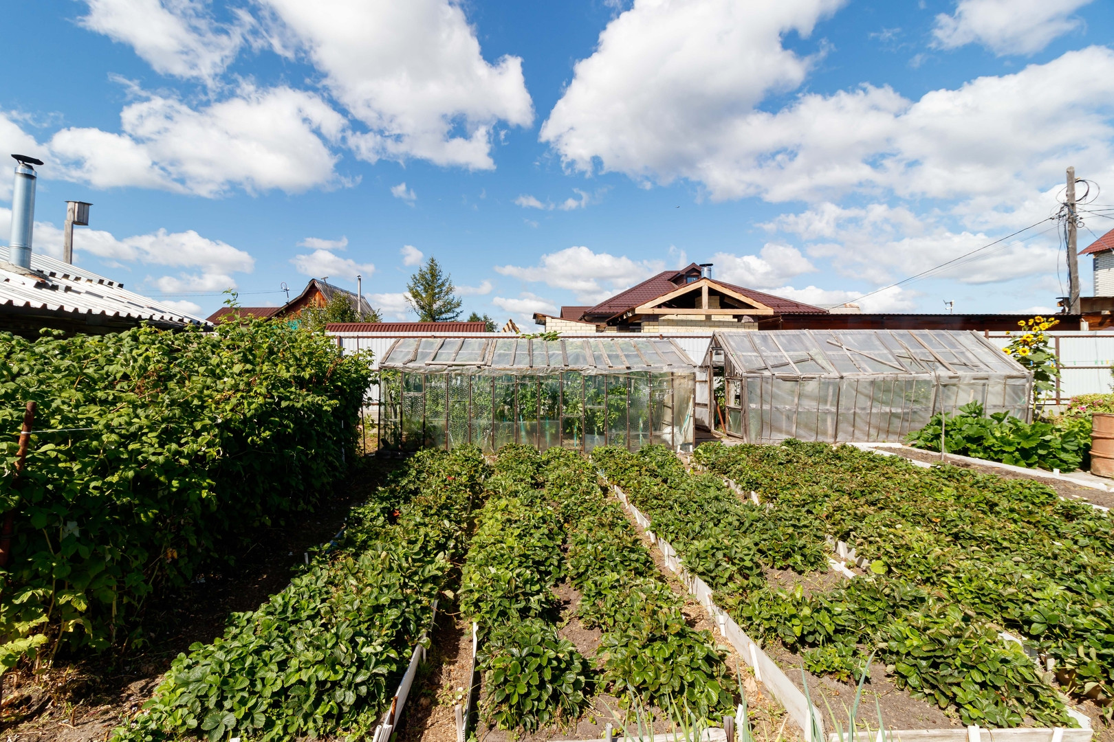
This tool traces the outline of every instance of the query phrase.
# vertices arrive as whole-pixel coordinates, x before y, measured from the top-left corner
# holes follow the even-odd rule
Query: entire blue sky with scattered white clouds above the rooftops
[[[47,162],[36,249],[60,254],[63,201],[91,201],[75,261],[202,316],[229,286],[276,305],[283,283],[359,273],[385,318],[413,318],[402,293],[431,255],[466,311],[500,321],[691,260],[819,306],[1051,310],[1066,269],[1042,220],[1065,167],[1111,194],[1091,210],[1114,204],[1114,6],[1098,0],[3,14],[20,33],[0,150]],[[0,239],[9,201],[0,178]],[[1111,228],[1086,214],[1079,246]]]

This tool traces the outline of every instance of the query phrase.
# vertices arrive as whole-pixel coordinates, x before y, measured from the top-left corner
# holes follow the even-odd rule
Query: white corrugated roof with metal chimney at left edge
[[[56,260],[40,253],[31,254],[29,276],[8,263],[8,248],[0,245],[0,307],[27,307],[71,315],[147,319],[150,321],[206,325],[206,320],[183,314],[155,299],[129,291],[104,276]]]

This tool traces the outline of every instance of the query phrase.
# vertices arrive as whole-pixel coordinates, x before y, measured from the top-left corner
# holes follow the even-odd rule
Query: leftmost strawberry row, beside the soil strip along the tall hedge
[[[222,637],[178,655],[114,740],[367,732],[465,546],[482,473],[475,447],[412,458],[353,512],[338,551],[319,555],[257,611],[235,614]]]

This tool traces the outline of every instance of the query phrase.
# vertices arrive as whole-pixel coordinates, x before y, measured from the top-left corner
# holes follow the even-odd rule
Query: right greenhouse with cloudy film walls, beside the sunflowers
[[[1033,375],[974,332],[715,333],[704,366],[701,416],[749,443],[898,442],[968,402],[1032,419]]]

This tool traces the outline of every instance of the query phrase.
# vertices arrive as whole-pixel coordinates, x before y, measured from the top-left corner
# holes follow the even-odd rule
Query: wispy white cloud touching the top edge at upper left
[[[78,22],[126,43],[156,72],[212,82],[240,51],[253,24],[245,11],[236,22],[217,23],[198,0],[86,0]]]

